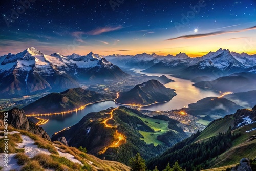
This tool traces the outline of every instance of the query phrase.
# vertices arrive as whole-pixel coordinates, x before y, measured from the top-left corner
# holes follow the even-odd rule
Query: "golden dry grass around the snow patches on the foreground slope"
[[[0,129],[1,130],[1,129]],[[14,128],[9,128],[9,131],[19,131],[20,134],[26,135],[30,137],[33,141],[35,141],[35,144],[38,146],[38,148],[44,148],[48,149],[52,155],[48,156],[46,154],[38,154],[34,158],[29,159],[25,154],[19,153],[17,154],[17,159],[20,160],[20,164],[24,164],[22,171],[40,171],[44,170],[44,168],[51,168],[57,171],[61,170],[67,170],[67,171],[73,171],[73,170],[106,170],[106,171],[117,171],[117,170],[123,170],[123,171],[130,171],[130,167],[119,163],[115,161],[106,161],[106,160],[101,160],[93,155],[86,154],[84,152],[79,151],[75,147],[67,147],[63,145],[62,143],[55,141],[55,142],[50,142],[44,138],[39,137],[38,135],[29,133],[24,130],[17,130]],[[12,146],[13,146],[13,151],[11,153],[18,153],[18,152],[24,152],[24,149],[16,149],[15,146],[17,143],[22,142],[22,138],[20,134],[13,134],[9,135],[9,137],[13,138],[12,141]],[[8,137],[8,138],[9,138]],[[9,138],[10,139],[10,138]],[[1,139],[0,139],[1,141]],[[1,145],[0,144],[0,149]],[[77,160],[79,160],[81,163],[84,164],[84,166],[81,166],[78,163],[73,163],[70,160],[68,160],[65,157],[60,157],[58,154],[57,149],[55,146],[61,149],[62,152],[69,153],[73,155]],[[9,148],[10,149],[10,148]],[[29,160],[27,160],[27,158]],[[92,163],[92,164],[90,164]],[[1,169],[0,169],[1,170]]]

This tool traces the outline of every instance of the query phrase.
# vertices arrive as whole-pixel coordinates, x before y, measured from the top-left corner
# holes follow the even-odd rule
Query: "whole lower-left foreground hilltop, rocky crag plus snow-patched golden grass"
[[[8,113],[8,167],[0,162],[3,171],[9,170],[130,170],[124,164],[100,160],[86,153],[85,148],[51,142],[41,127],[28,120],[23,110],[14,108]],[[4,112],[0,115],[0,155],[4,156]],[[60,140],[60,139],[59,139]]]

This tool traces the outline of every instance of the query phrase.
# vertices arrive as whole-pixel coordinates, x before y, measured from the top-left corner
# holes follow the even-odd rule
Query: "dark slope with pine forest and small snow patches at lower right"
[[[237,110],[212,121],[205,130],[177,143],[162,155],[148,161],[149,168],[162,168],[179,161],[187,170],[215,168],[239,163],[241,158],[256,157],[256,106]]]

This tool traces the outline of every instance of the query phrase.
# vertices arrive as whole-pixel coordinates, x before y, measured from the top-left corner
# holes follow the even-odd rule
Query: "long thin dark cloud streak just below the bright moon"
[[[175,37],[175,38],[169,38],[167,40],[176,40],[176,39],[181,39],[181,38],[189,39],[189,38],[207,37],[207,36],[220,35],[220,34],[226,34],[226,33],[238,33],[238,32],[243,32],[243,31],[247,31],[247,30],[254,30],[254,29],[256,29],[256,26],[249,27],[249,28],[242,29],[242,30],[237,30],[237,31],[216,31],[216,32],[205,33],[205,34],[184,35],[184,36],[179,36],[179,37]]]

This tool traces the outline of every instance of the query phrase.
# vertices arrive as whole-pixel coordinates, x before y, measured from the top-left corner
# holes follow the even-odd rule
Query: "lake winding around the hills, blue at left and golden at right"
[[[146,74],[148,76],[161,76],[163,74],[157,73],[142,73],[140,71],[136,71],[141,74]],[[203,90],[199,89],[195,86],[192,86],[193,82],[190,80],[175,78],[169,75],[166,75],[169,79],[175,80],[175,82],[169,82],[164,86],[167,88],[175,89],[177,96],[175,96],[172,100],[165,102],[165,103],[158,103],[153,104],[151,106],[143,107],[143,110],[152,110],[152,111],[168,111],[172,109],[181,109],[184,106],[187,106],[190,103],[195,103],[198,100],[215,96],[219,97],[220,93],[215,92],[212,90]],[[55,132],[58,132],[65,127],[72,126],[78,123],[85,115],[91,112],[99,112],[104,109],[108,109],[110,107],[117,107],[120,106],[116,104],[114,101],[103,101],[94,103],[92,105],[86,106],[85,109],[72,112],[70,114],[63,114],[63,115],[51,115],[51,116],[40,116],[43,119],[49,119],[49,121],[44,124],[40,125],[50,136],[52,136]]]

